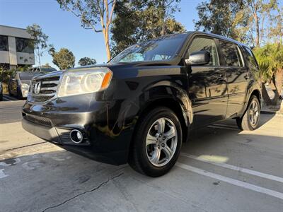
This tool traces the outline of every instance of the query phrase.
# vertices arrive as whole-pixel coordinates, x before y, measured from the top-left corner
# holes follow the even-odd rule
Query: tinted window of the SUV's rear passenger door
[[[219,43],[221,49],[221,56],[224,60],[224,66],[243,66],[243,61],[241,59],[241,54],[237,45],[222,40],[220,40]]]

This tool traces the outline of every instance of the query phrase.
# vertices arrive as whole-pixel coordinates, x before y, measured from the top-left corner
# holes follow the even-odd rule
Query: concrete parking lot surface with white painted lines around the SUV
[[[192,131],[163,177],[98,163],[21,128],[23,101],[0,102],[0,211],[282,211],[283,117]]]

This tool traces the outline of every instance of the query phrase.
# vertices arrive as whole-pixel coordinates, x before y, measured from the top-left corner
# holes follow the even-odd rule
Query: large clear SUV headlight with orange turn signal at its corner
[[[94,93],[108,88],[112,71],[105,67],[65,71],[58,90],[58,97]]]

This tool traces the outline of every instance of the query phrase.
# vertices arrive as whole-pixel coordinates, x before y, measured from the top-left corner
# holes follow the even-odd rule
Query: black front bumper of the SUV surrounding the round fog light
[[[74,98],[73,98],[74,99]],[[125,117],[121,102],[88,102],[76,99],[53,100],[45,105],[26,102],[23,106],[23,129],[58,146],[98,160],[121,165],[127,163],[132,138],[132,117]],[[83,100],[85,102],[85,100]],[[71,106],[70,106],[71,105]],[[123,117],[121,119],[121,115]],[[69,133],[78,129],[81,143],[71,141]]]

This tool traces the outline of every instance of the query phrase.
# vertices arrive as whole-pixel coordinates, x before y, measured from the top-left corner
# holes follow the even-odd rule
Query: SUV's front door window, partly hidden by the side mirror
[[[207,50],[210,53],[209,66],[219,66],[219,59],[217,54],[217,48],[213,39],[197,37],[192,40],[192,44],[187,50],[187,57],[192,54],[192,52]]]

